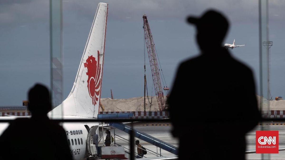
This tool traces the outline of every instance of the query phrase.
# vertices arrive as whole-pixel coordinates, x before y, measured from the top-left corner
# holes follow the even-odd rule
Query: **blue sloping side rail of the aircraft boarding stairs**
[[[118,123],[118,122],[112,122],[112,123],[110,123],[110,126],[113,126],[113,127],[117,128],[119,130],[122,130],[122,131],[124,131],[124,132],[126,132],[128,134],[130,134],[131,130],[132,130],[130,128],[130,126],[127,126],[127,125],[125,125],[123,123]],[[166,142],[164,142],[162,140],[154,138],[154,137],[152,137],[152,136],[150,136],[148,134],[145,134],[143,132],[140,132],[138,130],[134,129],[133,131],[135,133],[135,137],[137,137],[137,138],[139,138],[139,139],[141,139],[143,141],[146,141],[148,143],[151,143],[152,145],[155,145],[156,147],[160,147],[160,148],[162,148],[162,149],[164,149],[164,150],[166,150],[166,151],[168,151],[170,153],[178,155],[178,148],[175,147],[174,145],[168,144],[168,143],[166,143]]]

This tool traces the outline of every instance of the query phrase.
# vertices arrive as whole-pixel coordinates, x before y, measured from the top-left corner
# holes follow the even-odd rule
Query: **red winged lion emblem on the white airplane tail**
[[[86,75],[88,75],[88,80],[87,80],[87,88],[89,91],[89,95],[92,98],[92,104],[95,106],[96,101],[99,98],[99,88],[101,85],[101,79],[100,79],[100,74],[101,74],[101,65],[99,64],[99,51],[98,51],[98,58],[96,61],[95,57],[88,56],[86,62],[84,63],[84,67],[87,67],[87,72]]]

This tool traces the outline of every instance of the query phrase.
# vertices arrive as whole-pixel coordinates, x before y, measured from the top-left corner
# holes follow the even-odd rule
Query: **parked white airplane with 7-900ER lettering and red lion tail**
[[[72,90],[62,104],[48,113],[50,118],[97,118],[101,96],[107,13],[108,4],[99,3]],[[21,117],[27,118],[30,116]],[[0,117],[1,120],[13,120],[16,118],[18,117]],[[9,123],[0,123],[0,134],[4,132],[8,125]],[[92,136],[89,135],[93,135],[96,131],[102,137],[102,134],[99,132],[98,122],[69,122],[62,123],[62,127],[66,131],[70,152],[75,160],[86,159],[91,154],[91,145],[87,145],[87,143],[93,144],[93,142],[91,141]]]

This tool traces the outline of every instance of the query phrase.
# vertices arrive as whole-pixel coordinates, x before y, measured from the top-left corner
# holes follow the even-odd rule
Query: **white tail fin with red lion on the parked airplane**
[[[101,97],[108,4],[99,3],[68,97],[49,115],[97,118]],[[63,111],[63,112],[62,112]]]

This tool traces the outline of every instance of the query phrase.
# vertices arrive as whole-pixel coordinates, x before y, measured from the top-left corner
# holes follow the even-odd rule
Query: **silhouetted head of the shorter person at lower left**
[[[47,87],[41,84],[36,84],[30,88],[28,92],[28,99],[28,109],[30,112],[32,112],[32,116],[43,114],[46,115],[52,109],[50,92],[48,91]]]

